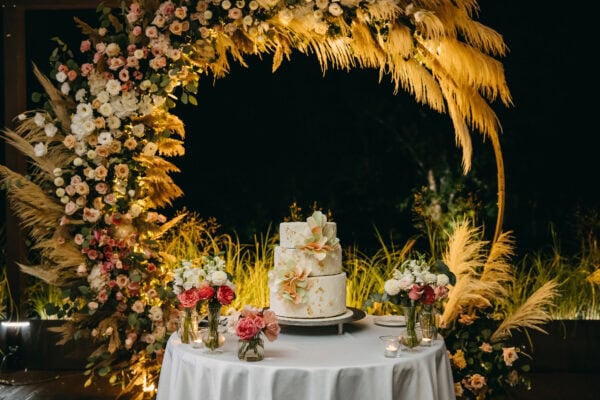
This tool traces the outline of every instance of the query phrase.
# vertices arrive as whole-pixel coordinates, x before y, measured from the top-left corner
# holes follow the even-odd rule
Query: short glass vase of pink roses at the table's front
[[[264,358],[263,335],[272,342],[277,339],[281,331],[277,315],[273,311],[261,311],[248,305],[239,315],[233,316],[232,321],[231,330],[239,337],[240,360],[262,360]]]

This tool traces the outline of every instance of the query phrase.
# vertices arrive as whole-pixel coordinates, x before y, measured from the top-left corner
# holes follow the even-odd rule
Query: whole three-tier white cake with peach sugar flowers
[[[336,224],[319,211],[307,222],[283,222],[274,268],[269,272],[270,306],[288,318],[328,318],[346,308],[346,274]]]

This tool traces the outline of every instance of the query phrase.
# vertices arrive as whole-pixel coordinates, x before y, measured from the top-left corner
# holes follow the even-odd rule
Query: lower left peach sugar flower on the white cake
[[[311,286],[308,280],[311,272],[310,267],[301,267],[290,259],[277,270],[270,271],[269,278],[278,296],[293,304],[305,304]]]

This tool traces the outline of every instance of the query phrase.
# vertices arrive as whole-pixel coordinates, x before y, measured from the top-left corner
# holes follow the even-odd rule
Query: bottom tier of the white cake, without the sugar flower
[[[308,278],[310,289],[307,302],[294,304],[271,288],[269,308],[282,317],[328,318],[346,312],[346,273]]]

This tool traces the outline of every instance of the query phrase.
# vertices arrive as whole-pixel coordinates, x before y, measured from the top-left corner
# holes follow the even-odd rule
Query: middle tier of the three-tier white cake
[[[298,265],[303,269],[310,268],[309,276],[335,275],[342,272],[342,248],[337,246],[324,254],[325,258],[319,260],[317,254],[309,250],[276,246],[273,262],[275,269],[290,265]]]

